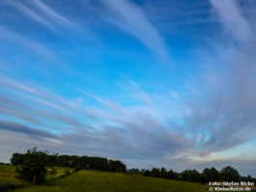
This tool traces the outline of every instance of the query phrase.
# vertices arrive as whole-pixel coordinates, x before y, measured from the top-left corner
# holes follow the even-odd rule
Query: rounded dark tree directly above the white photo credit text
[[[223,181],[240,181],[241,176],[236,169],[228,166],[220,170],[220,178]]]

